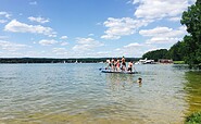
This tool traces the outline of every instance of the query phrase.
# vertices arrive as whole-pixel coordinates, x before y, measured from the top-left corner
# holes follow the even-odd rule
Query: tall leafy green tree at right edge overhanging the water
[[[189,33],[189,36],[184,37],[187,53],[185,61],[190,67],[201,67],[201,0],[197,0],[196,4],[183,13],[180,23],[187,26]]]

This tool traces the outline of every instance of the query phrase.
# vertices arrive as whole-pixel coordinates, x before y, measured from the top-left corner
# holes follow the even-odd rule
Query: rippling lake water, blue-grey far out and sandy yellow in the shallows
[[[0,123],[180,124],[201,110],[200,72],[152,64],[100,73],[104,65],[0,64]]]

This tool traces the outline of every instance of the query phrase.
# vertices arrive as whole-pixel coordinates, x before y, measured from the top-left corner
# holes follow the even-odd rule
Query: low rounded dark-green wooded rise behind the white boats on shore
[[[167,49],[153,50],[145,53],[142,59],[152,59],[158,61],[159,59],[167,59]]]

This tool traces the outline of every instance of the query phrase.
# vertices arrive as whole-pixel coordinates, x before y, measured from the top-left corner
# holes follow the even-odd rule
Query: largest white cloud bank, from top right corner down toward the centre
[[[178,22],[181,13],[194,0],[129,0],[127,3],[136,4],[135,17],[113,18],[109,17],[103,25],[108,28],[101,38],[120,39],[136,33],[142,26],[155,20],[166,18]]]

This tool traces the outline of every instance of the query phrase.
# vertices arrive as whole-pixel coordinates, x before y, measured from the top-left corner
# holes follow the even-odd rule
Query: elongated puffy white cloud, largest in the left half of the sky
[[[48,35],[48,36],[56,34],[50,27],[45,27],[41,25],[28,25],[25,23],[21,23],[16,20],[12,20],[10,23],[8,23],[4,27],[4,30],[13,32],[13,33],[42,34],[42,35]]]

